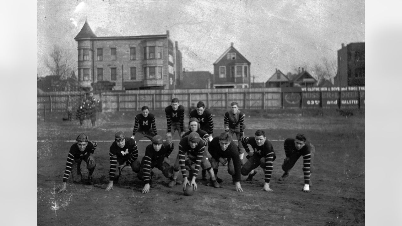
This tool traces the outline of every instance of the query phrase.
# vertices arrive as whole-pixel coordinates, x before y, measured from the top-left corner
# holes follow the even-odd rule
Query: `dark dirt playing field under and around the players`
[[[222,112],[214,111],[215,136],[224,131]],[[264,176],[260,168],[252,182],[242,176],[244,192],[236,192],[226,166],[219,166],[218,176],[224,180],[222,188],[205,186],[199,175],[198,190],[193,196],[184,196],[180,185],[167,187],[168,179],[158,169],[154,169],[150,193],[141,193],[144,184],[129,168],[123,170],[114,190],[105,191],[113,134],[121,129],[131,135],[137,113],[99,113],[96,127],[91,127],[89,120],[83,126],[76,120],[62,121],[65,116],[61,114],[48,115],[46,121],[38,119],[38,225],[365,225],[364,114],[343,117],[245,111],[251,116],[246,118],[246,136],[254,136],[256,129],[264,129],[277,154],[271,178],[273,192],[261,190]],[[155,114],[158,133],[164,136],[166,118]],[[62,185],[68,150],[81,132],[89,140],[99,141],[95,152],[95,185],[86,185],[88,171],[82,163],[82,182],[72,183],[70,176],[68,192],[57,193]],[[294,137],[297,132],[303,132],[316,146],[311,193],[301,191],[302,159],[284,183],[278,181],[285,157],[283,140]],[[178,152],[177,133],[173,139],[176,148],[170,162],[174,162]],[[139,142],[139,158],[148,144],[145,138]]]

